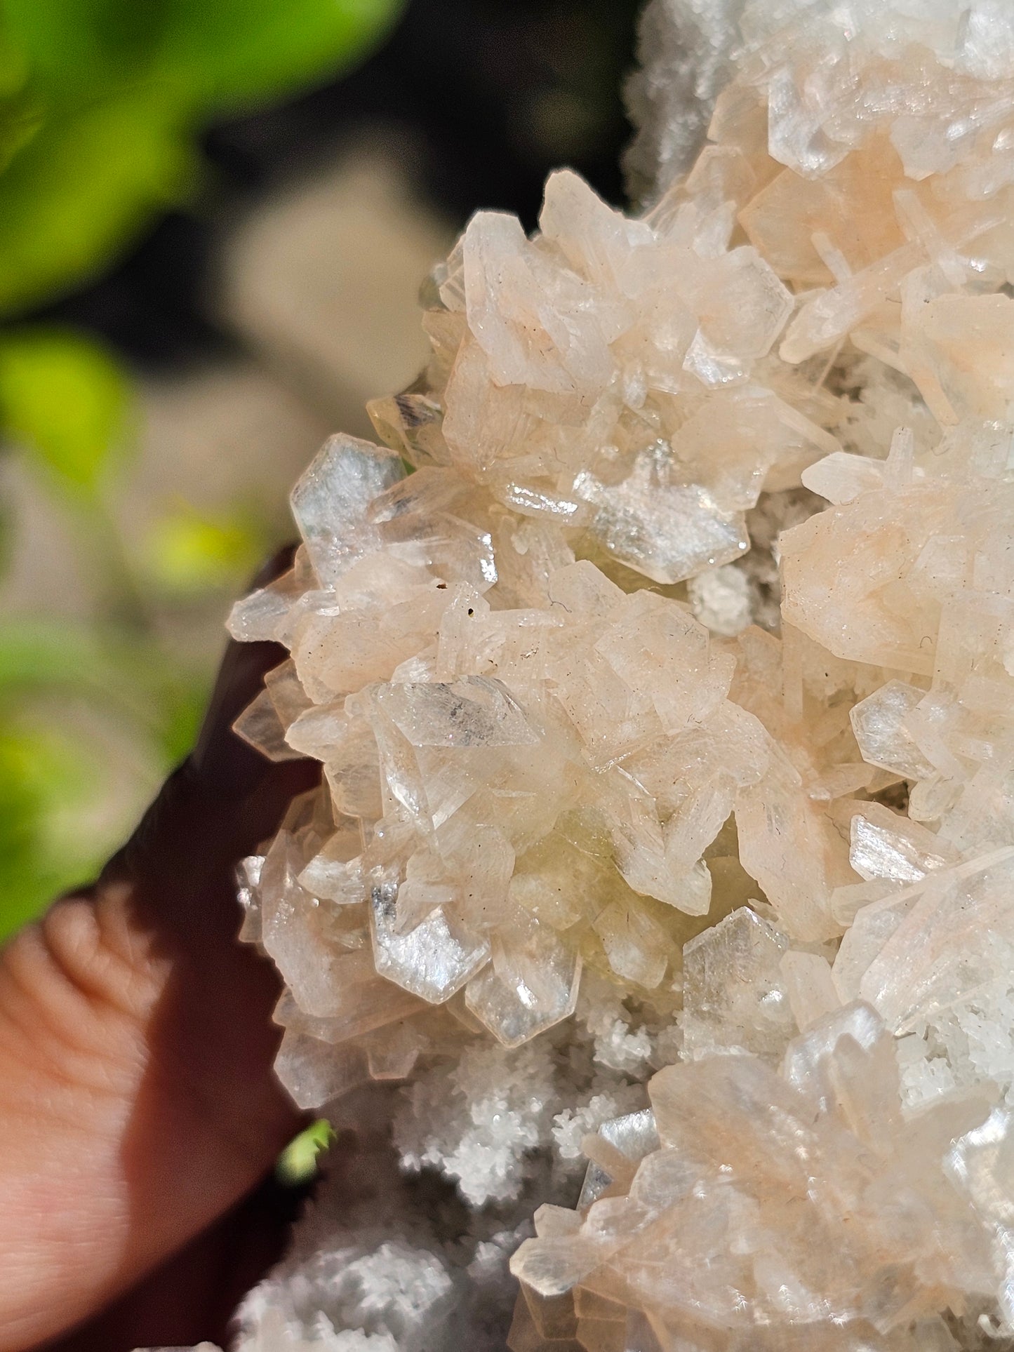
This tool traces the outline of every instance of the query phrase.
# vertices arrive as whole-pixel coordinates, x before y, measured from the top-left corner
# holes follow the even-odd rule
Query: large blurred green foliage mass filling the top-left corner
[[[0,0],[0,314],[200,180],[193,137],[361,57],[399,0]]]

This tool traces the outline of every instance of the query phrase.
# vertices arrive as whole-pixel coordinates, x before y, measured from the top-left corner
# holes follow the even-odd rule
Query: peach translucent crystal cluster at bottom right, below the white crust
[[[988,1109],[945,1105],[906,1122],[890,1034],[865,1007],[791,1044],[781,1076],[752,1056],[706,1057],[660,1072],[650,1095],[660,1149],[629,1191],[594,1201],[577,1232],[522,1244],[511,1265],[526,1287],[645,1306],[683,1338],[723,1330],[713,1345],[734,1347],[727,1330],[791,1337],[802,1325],[800,1348],[859,1348],[888,1345],[864,1329],[876,1338],[932,1321],[941,1288],[996,1280],[971,1198],[913,1155],[930,1141],[946,1149]],[[814,1188],[817,1171],[833,1186]]]

